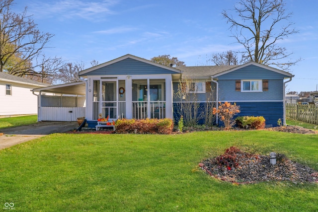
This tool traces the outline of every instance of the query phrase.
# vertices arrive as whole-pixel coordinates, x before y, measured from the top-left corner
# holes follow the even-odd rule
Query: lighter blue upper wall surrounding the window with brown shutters
[[[219,101],[282,101],[283,98],[282,79],[268,80],[268,91],[262,92],[236,91],[235,80],[219,80]]]

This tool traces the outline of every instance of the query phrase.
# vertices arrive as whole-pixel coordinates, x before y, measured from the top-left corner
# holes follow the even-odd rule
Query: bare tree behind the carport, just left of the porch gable
[[[68,83],[80,81],[79,71],[84,70],[84,64],[81,63],[67,63],[59,70],[56,75],[54,84]]]

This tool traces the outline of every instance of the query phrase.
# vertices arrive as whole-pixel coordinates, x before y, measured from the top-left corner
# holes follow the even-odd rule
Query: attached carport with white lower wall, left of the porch
[[[86,117],[85,81],[35,88],[32,93],[38,96],[38,122]]]

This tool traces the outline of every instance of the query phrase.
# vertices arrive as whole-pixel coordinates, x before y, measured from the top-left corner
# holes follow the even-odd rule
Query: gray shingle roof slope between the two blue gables
[[[223,71],[228,71],[236,66],[184,66],[176,67],[176,69],[183,71],[182,78],[195,78],[195,77],[209,77]]]

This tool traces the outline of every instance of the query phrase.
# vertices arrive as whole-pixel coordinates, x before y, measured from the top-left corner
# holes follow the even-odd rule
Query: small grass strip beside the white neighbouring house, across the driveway
[[[37,115],[1,118],[0,129],[35,124],[37,118]]]

